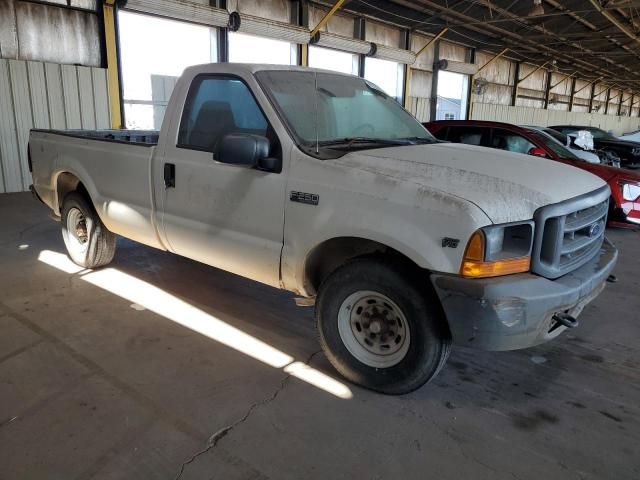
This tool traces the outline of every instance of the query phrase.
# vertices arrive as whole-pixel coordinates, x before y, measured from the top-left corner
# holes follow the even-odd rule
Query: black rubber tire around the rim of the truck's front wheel
[[[409,269],[386,259],[360,258],[338,268],[322,283],[316,301],[320,344],[331,364],[347,380],[377,392],[400,395],[420,388],[446,363],[451,337],[444,313],[431,289],[416,286],[425,285],[428,279],[422,277],[417,282],[412,277]],[[358,295],[356,292],[366,291],[390,299],[408,324],[408,350],[398,363],[386,368],[370,366],[356,358],[339,331],[338,314],[343,302],[348,303],[349,298]],[[350,315],[353,318],[353,313]]]

